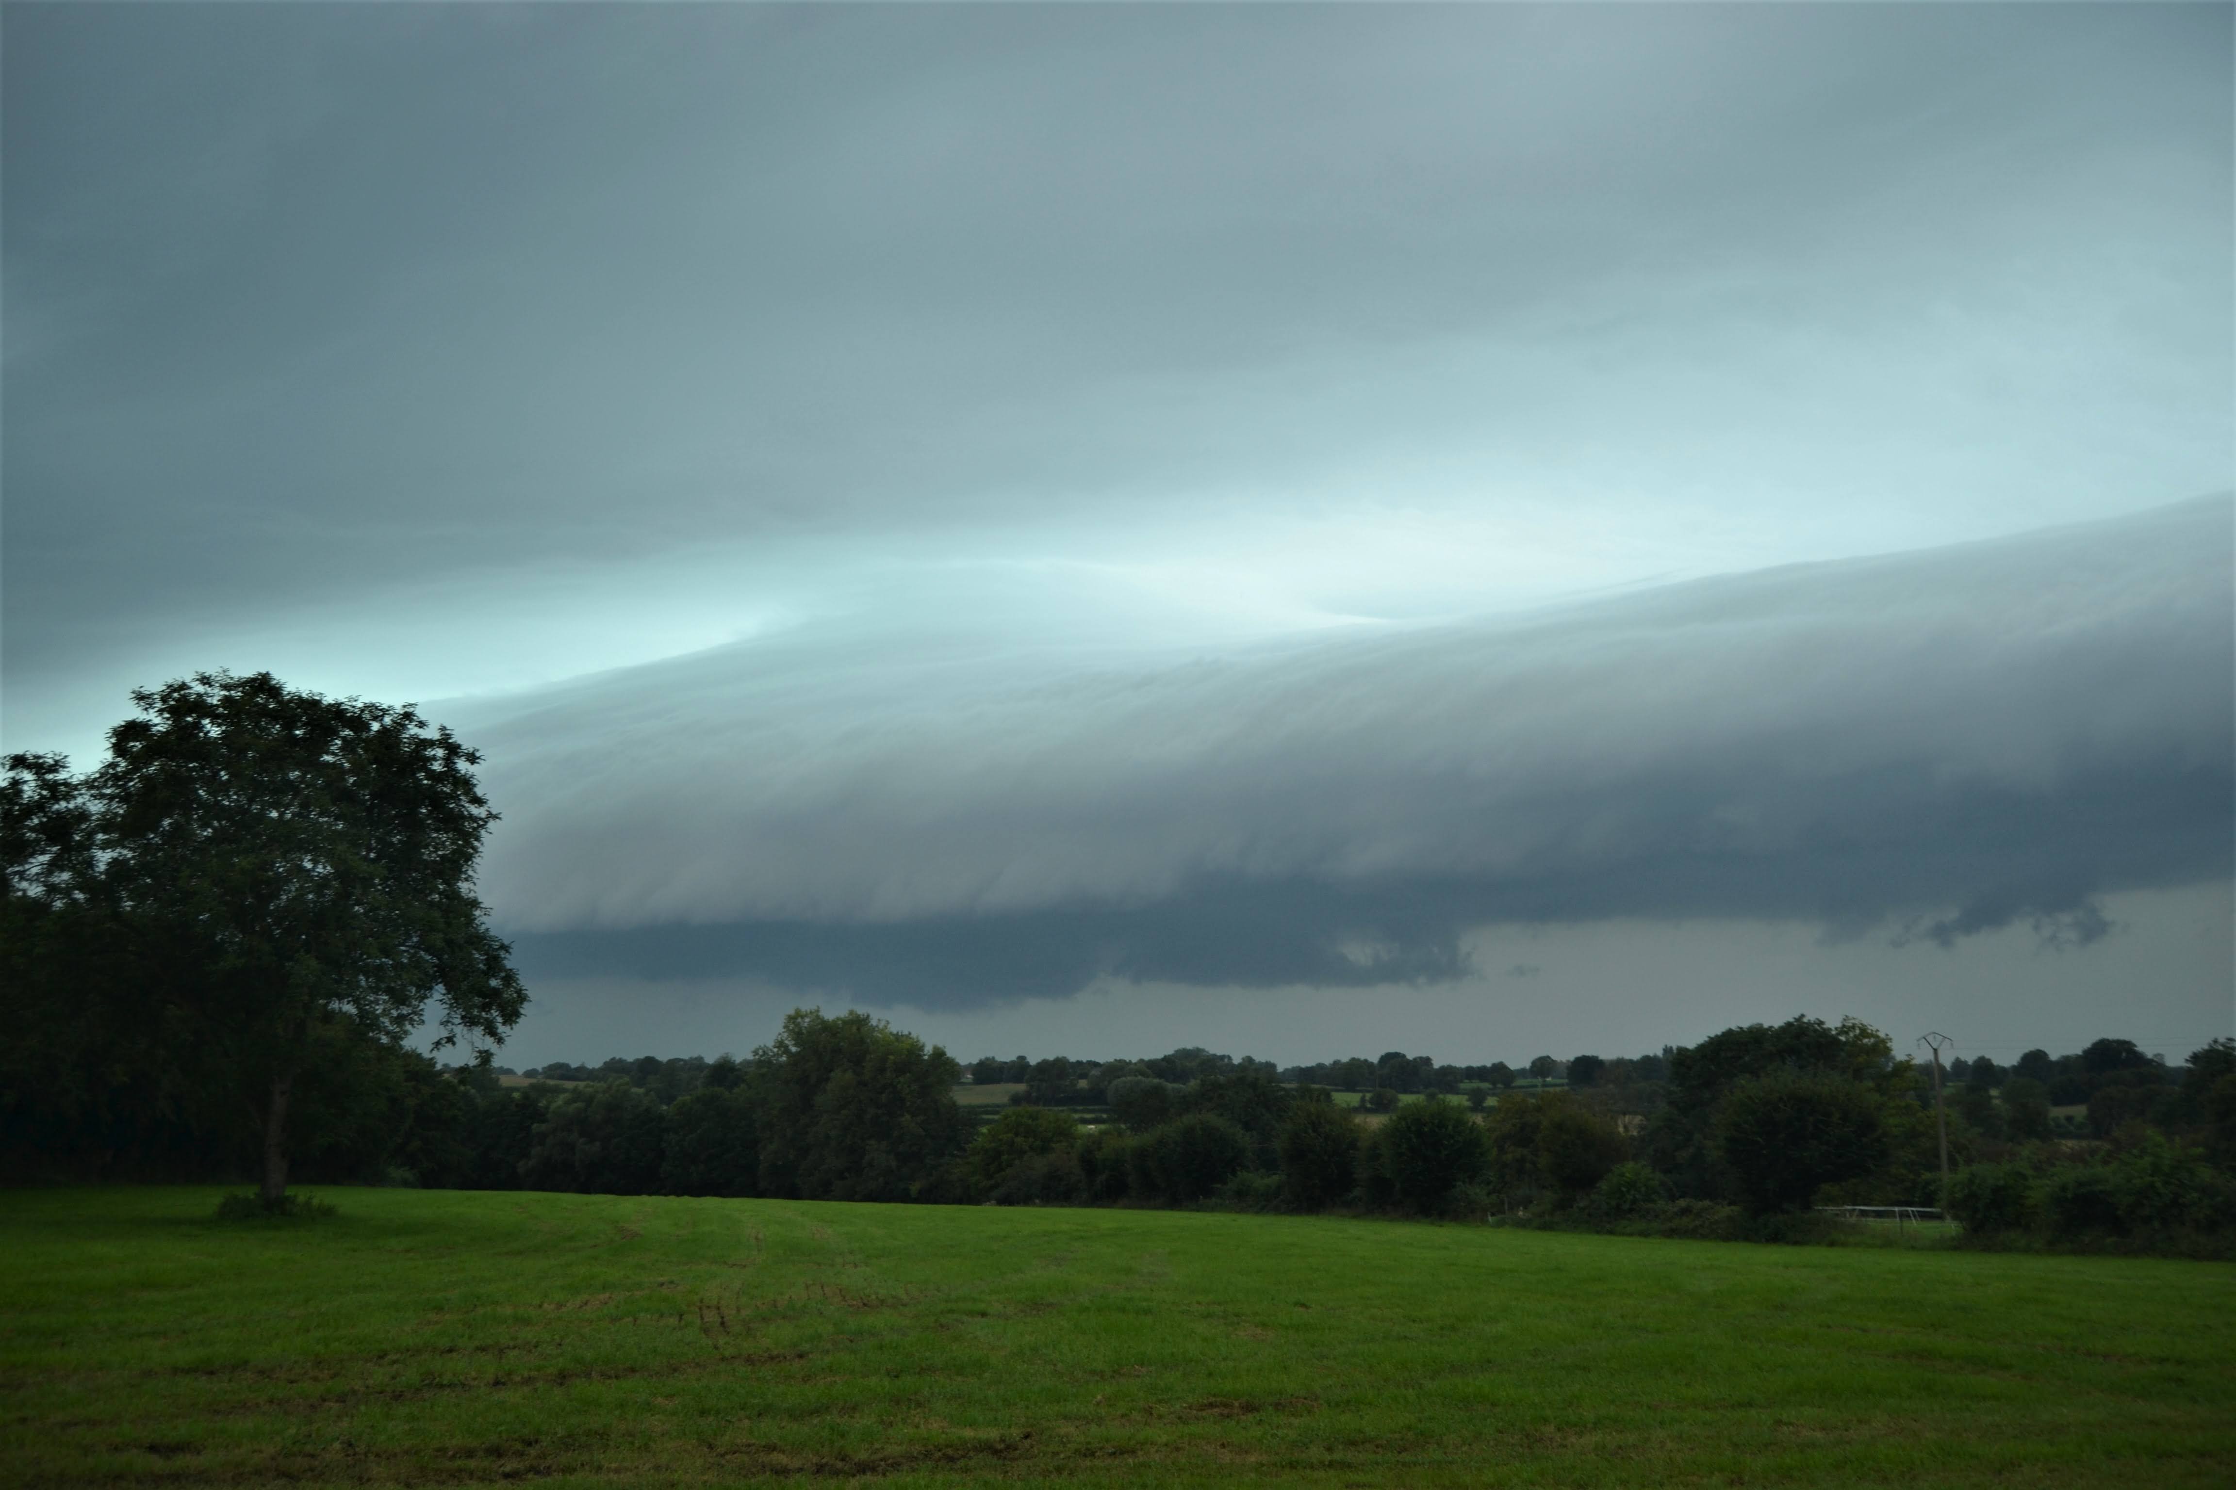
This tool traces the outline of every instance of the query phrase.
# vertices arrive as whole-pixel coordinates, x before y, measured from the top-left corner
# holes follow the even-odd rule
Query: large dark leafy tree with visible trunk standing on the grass
[[[409,706],[268,672],[132,693],[92,773],[107,900],[177,972],[172,999],[262,1099],[264,1202],[286,1197],[288,1101],[338,1034],[494,1043],[525,1005],[474,896],[496,813],[476,751]]]

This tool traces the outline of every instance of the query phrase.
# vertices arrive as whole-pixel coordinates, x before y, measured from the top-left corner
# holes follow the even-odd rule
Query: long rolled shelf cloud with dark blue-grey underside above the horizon
[[[2071,943],[2232,873],[2232,545],[2207,498],[1084,672],[805,625],[461,722],[550,976],[968,1005],[1438,981],[1514,920]]]

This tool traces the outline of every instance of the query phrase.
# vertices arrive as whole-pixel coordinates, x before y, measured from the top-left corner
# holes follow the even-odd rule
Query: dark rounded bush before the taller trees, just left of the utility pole
[[[1872,1173],[1887,1155],[1878,1099],[1838,1074],[1773,1072],[1724,1099],[1717,1139],[1757,1215],[1800,1211],[1820,1186]]]

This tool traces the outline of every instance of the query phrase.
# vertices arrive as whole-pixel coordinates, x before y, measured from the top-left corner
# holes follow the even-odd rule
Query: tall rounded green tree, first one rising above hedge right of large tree
[[[968,1137],[955,1059],[859,1010],[792,1010],[754,1061],[762,1195],[908,1200]]]

